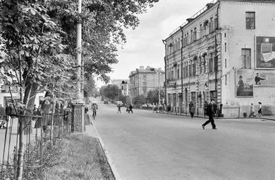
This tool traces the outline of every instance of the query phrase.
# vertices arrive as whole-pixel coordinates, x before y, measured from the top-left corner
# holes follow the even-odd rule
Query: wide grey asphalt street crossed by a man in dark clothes
[[[275,179],[275,121],[204,121],[99,101],[94,125],[124,180]]]

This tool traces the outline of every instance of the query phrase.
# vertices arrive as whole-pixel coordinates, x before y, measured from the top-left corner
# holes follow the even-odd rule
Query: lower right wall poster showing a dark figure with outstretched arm
[[[275,72],[254,72],[254,86],[275,86]]]

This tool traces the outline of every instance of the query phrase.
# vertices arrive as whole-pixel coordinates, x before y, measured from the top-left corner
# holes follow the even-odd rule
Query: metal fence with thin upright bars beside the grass
[[[66,137],[71,132],[71,113],[65,114],[63,110],[55,112],[40,116],[5,116],[8,121],[0,179],[43,179],[47,158],[45,150],[51,148],[56,139]]]

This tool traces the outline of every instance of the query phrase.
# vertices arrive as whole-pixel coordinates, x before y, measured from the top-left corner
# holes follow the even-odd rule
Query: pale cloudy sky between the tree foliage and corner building
[[[181,26],[211,0],[159,0],[145,14],[138,15],[140,25],[135,30],[124,30],[127,42],[118,46],[118,63],[111,66],[113,79],[129,79],[131,71],[140,66],[164,70],[162,39]],[[123,47],[123,48],[122,48]]]

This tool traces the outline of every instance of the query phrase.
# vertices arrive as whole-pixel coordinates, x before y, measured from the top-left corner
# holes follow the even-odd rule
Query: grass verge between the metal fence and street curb
[[[98,139],[72,134],[63,140],[60,160],[45,170],[44,179],[115,179]]]

